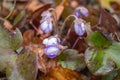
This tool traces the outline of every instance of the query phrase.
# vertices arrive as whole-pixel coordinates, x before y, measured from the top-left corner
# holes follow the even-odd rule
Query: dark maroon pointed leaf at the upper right
[[[101,9],[99,25],[102,30],[109,33],[115,33],[118,31],[116,20],[104,9]]]

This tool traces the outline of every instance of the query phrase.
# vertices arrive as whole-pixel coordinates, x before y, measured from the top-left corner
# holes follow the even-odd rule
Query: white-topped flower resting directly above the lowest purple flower
[[[55,36],[51,36],[43,40],[43,44],[48,45],[60,45],[60,39]]]

